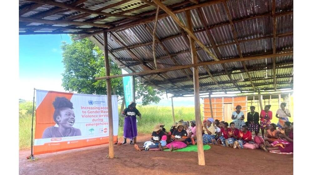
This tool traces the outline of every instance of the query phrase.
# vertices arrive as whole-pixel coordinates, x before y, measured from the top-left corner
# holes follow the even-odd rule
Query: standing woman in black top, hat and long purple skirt
[[[131,102],[128,105],[128,108],[124,109],[122,116],[124,117],[124,142],[126,143],[126,138],[131,140],[130,144],[134,144],[133,140],[137,137],[137,118],[139,116],[141,119],[141,113],[136,109],[136,103]]]

